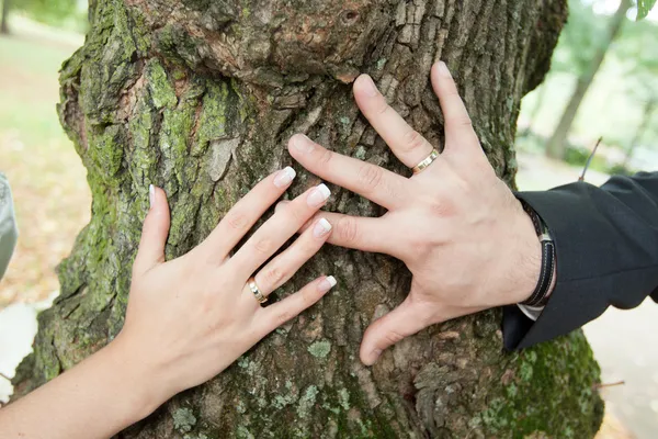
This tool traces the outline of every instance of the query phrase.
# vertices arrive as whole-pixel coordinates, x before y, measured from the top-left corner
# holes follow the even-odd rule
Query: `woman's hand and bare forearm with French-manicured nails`
[[[276,212],[229,257],[231,249],[293,181],[292,168],[261,181],[188,255],[164,261],[169,206],[149,189],[133,284],[121,334],[105,348],[0,410],[0,437],[113,437],[185,389],[209,380],[271,330],[320,300],[334,284],[321,277],[261,307],[251,274],[327,201],[325,184]],[[286,282],[331,233],[322,218],[256,274],[263,295]],[[47,414],[47,416],[45,415]]]

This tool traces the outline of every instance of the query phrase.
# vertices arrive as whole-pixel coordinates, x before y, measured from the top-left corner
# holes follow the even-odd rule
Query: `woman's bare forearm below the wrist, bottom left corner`
[[[117,340],[118,341],[118,340]],[[110,344],[73,369],[0,410],[1,438],[109,438],[161,403],[144,365]]]

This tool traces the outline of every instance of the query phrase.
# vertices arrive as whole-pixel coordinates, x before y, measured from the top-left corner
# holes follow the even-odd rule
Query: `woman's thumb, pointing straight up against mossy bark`
[[[169,235],[169,204],[167,194],[160,188],[149,187],[150,210],[144,219],[139,249],[133,264],[133,272],[143,274],[155,266],[164,262],[164,246]]]

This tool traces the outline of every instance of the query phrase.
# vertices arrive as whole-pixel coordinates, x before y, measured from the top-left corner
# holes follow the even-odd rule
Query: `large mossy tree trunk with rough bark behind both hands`
[[[198,244],[268,172],[296,166],[307,133],[337,151],[409,170],[359,114],[351,82],[370,72],[441,147],[429,85],[444,59],[498,175],[513,185],[521,98],[535,88],[566,19],[565,0],[92,0],[84,46],[61,71],[61,123],[89,170],[92,219],[59,267],[18,395],[121,329],[148,184],[171,204],[169,258]],[[291,196],[318,183],[299,167]],[[382,210],[332,188],[328,210]],[[410,275],[382,255],[329,247],[284,288],[320,272],[339,285],[226,372],[184,392],[122,438],[592,437],[599,368],[580,331],[502,350],[499,311],[433,326],[373,368],[359,345]],[[567,435],[567,436],[565,436]]]

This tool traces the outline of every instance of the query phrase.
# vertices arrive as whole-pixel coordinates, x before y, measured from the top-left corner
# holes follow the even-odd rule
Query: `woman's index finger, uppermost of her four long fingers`
[[[208,252],[208,258],[222,263],[256,222],[285,192],[294,178],[295,170],[288,166],[268,176],[238,201],[201,245],[203,251]]]

